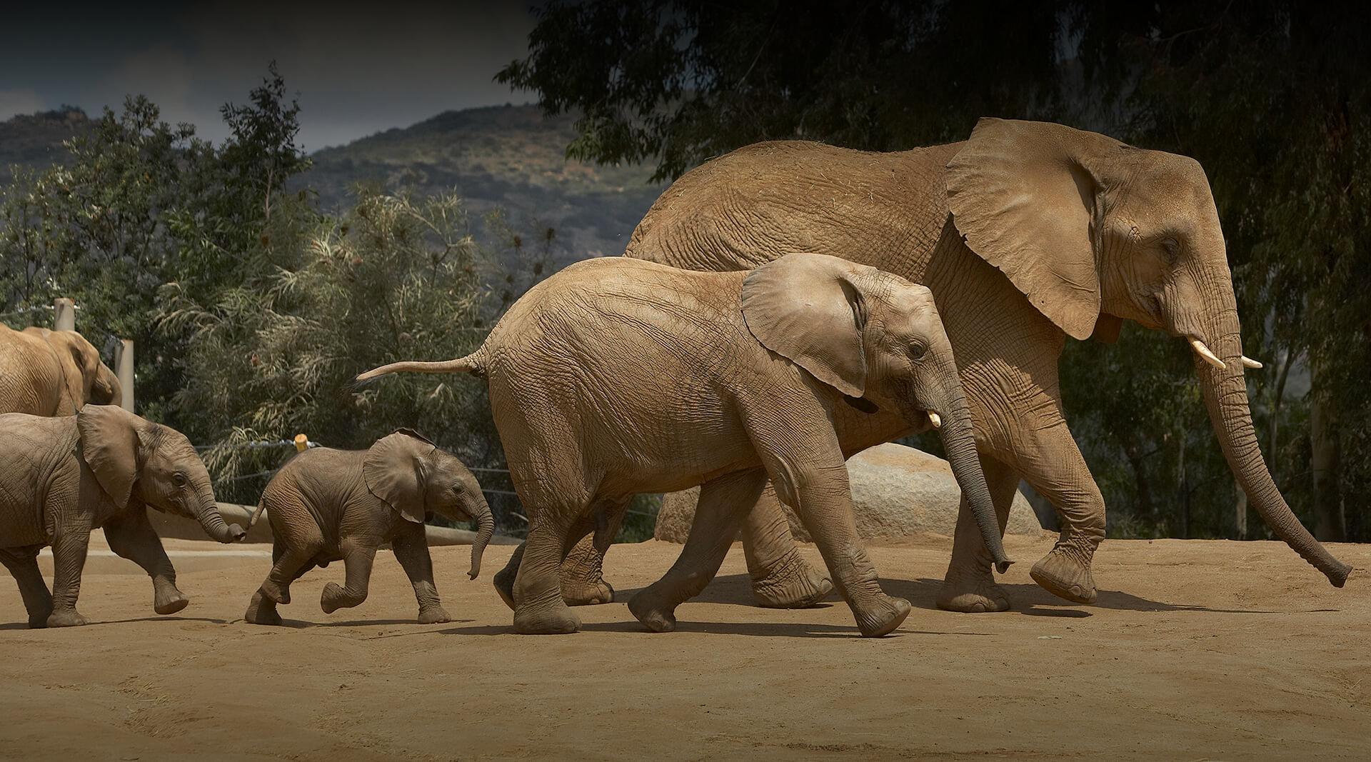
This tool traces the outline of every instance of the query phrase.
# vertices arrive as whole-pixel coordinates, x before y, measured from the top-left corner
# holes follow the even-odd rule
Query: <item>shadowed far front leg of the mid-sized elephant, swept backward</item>
[[[653,632],[676,629],[676,607],[709,585],[738,537],[747,506],[766,482],[761,469],[718,477],[699,491],[695,521],[680,558],[666,574],[635,595],[628,610]]]

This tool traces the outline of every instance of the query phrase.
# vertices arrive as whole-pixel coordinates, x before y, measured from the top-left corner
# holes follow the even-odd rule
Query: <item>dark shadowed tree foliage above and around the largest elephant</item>
[[[659,178],[761,140],[961,140],[979,116],[1194,156],[1228,236],[1248,354],[1268,360],[1248,378],[1276,484],[1320,536],[1371,537],[1357,499],[1371,491],[1371,29],[1359,8],[588,0],[539,14],[528,58],[498,79],[536,90],[550,114],[581,114],[568,155],[655,162]],[[1142,330],[1068,344],[1068,419],[1109,532],[1264,536],[1254,518],[1241,529],[1187,360]]]

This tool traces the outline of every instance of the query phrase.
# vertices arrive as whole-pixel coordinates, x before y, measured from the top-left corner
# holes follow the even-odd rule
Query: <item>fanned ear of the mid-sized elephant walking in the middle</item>
[[[787,254],[743,280],[743,321],[768,349],[851,397],[866,391],[857,282],[872,267],[823,254]]]

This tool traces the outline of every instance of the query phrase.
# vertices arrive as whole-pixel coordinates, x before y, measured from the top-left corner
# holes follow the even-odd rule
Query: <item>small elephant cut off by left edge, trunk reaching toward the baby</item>
[[[174,614],[188,599],[148,524],[148,506],[199,519],[221,543],[244,534],[219,515],[191,441],[121,407],[88,404],[62,418],[0,415],[0,562],[19,584],[32,628],[85,624],[77,595],[96,526],[110,550],[152,577],[158,614]],[[44,545],[52,545],[51,593],[38,573]]]

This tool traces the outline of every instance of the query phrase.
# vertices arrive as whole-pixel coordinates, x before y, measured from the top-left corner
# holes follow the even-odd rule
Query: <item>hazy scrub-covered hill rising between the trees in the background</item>
[[[557,233],[566,260],[620,254],[665,184],[647,184],[646,166],[602,167],[565,158],[572,116],[543,116],[535,106],[447,111],[314,153],[302,184],[325,208],[345,201],[359,181],[422,193],[457,190],[473,212],[500,207],[517,233]]]

